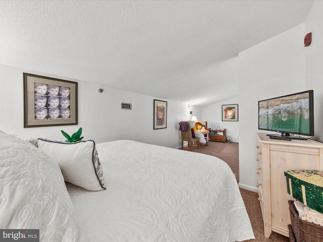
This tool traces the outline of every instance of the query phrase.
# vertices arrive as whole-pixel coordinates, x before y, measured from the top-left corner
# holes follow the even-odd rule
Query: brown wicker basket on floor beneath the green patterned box
[[[294,232],[296,242],[323,241],[323,226],[302,220],[296,211],[294,201],[289,200],[288,204],[291,214],[292,231]]]

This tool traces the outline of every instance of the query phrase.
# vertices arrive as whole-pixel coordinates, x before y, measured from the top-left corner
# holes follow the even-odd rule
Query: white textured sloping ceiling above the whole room
[[[203,106],[237,97],[238,53],[312,3],[0,1],[0,64]]]

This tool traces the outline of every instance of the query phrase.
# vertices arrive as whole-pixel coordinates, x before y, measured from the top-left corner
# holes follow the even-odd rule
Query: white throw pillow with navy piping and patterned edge
[[[38,148],[59,163],[65,181],[89,191],[105,189],[93,140],[68,143],[38,139]]]

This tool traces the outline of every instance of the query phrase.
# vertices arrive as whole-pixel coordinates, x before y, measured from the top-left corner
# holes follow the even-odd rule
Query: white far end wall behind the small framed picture
[[[227,137],[231,136],[233,142],[239,142],[239,104],[238,97],[220,103],[203,107],[203,120],[207,121],[207,128],[212,129],[212,123],[219,123],[220,129],[227,129]],[[238,104],[238,122],[222,121],[222,105]]]

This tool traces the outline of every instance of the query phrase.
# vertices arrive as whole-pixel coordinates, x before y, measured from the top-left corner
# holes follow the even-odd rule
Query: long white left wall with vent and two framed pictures
[[[23,73],[78,82],[78,125],[23,128]],[[191,119],[189,111],[201,116],[202,108],[181,102],[168,101],[167,129],[153,130],[153,99],[151,97],[86,82],[66,79],[35,71],[0,65],[0,130],[35,138],[64,141],[61,130],[75,133],[82,127],[84,140],[96,143],[130,139],[166,147],[180,147],[178,123]],[[102,93],[98,89],[102,88]],[[132,103],[132,110],[121,109],[121,102]]]

